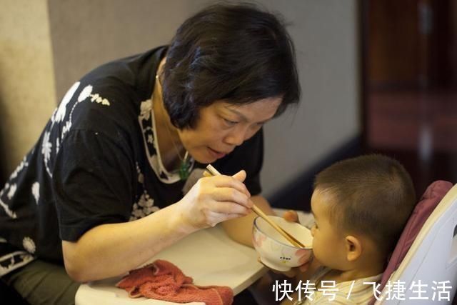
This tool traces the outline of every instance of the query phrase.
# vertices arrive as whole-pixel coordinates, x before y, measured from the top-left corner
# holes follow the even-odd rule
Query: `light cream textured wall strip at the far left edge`
[[[10,172],[38,139],[56,94],[47,2],[0,0],[0,7],[1,154]]]

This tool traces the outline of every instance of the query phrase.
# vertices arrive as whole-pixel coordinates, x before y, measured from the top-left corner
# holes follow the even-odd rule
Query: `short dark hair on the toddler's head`
[[[333,196],[330,219],[338,231],[363,234],[385,254],[393,251],[416,205],[411,176],[379,154],[339,161],[321,171],[314,189]]]

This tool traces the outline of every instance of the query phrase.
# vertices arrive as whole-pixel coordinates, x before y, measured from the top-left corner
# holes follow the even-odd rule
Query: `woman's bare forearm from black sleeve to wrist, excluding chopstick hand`
[[[65,269],[79,282],[118,276],[194,231],[176,204],[136,221],[96,226],[76,242],[62,241]]]

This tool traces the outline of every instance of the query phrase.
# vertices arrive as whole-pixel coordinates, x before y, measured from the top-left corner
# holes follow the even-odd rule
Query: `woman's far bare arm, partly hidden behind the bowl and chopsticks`
[[[263,196],[252,196],[251,201],[253,202],[253,204],[258,206],[258,208],[261,209],[265,214],[275,214],[274,211],[271,209],[270,204],[268,204],[268,201],[266,201],[266,199]],[[222,226],[224,227],[226,233],[231,237],[231,239],[237,241],[240,244],[253,247],[252,226],[253,221],[254,219],[256,219],[256,217],[257,214],[255,214],[253,211],[250,211],[250,213],[244,217],[224,221],[222,223]]]

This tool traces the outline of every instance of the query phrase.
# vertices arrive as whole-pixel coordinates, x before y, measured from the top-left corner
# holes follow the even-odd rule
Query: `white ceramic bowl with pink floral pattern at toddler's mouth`
[[[310,229],[301,224],[286,221],[282,217],[269,217],[306,247],[292,246],[270,224],[261,217],[257,217],[254,220],[252,241],[262,263],[268,268],[278,271],[288,271],[292,267],[305,264],[312,254],[313,236],[311,236]]]

